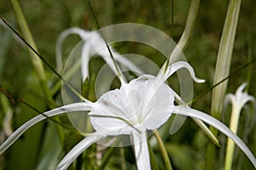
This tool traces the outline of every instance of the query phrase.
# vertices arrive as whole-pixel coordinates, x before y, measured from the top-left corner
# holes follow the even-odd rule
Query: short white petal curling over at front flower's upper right
[[[177,70],[182,69],[182,68],[186,68],[189,71],[191,77],[193,78],[193,80],[195,82],[198,82],[198,83],[205,82],[205,80],[195,77],[194,69],[191,67],[191,65],[189,65],[189,63],[184,62],[184,61],[178,61],[176,63],[169,65],[166,70],[164,81],[166,81],[167,78],[170,77],[174,72],[176,72]]]

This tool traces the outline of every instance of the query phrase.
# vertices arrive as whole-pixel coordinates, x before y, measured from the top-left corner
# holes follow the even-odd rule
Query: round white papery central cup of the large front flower
[[[131,133],[134,128],[160,127],[171,115],[168,108],[173,105],[174,97],[170,87],[155,81],[138,77],[122,84],[120,89],[103,94],[96,102],[96,110],[90,112],[95,130],[108,129],[118,135]]]

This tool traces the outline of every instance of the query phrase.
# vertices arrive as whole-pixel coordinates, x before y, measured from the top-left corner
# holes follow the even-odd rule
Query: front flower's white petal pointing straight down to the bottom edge
[[[133,132],[132,137],[134,143],[134,153],[137,161],[137,169],[151,169],[146,132]]]

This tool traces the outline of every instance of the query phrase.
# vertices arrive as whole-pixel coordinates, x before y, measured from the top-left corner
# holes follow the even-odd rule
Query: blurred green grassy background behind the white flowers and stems
[[[185,25],[186,17],[189,10],[189,0],[91,0],[92,7],[95,10],[97,20],[100,25],[109,26],[117,23],[132,22],[141,23],[148,26],[153,26],[160,31],[166,32],[172,37],[175,42],[178,42]],[[195,28],[190,38],[188,48],[183,53],[188,59],[190,65],[195,69],[197,77],[206,79],[204,84],[195,84],[194,96],[201,94],[205,89],[212,86],[214,77],[214,68],[218,54],[218,44],[221,37],[221,32],[224,26],[225,13],[229,1],[201,1],[198,17]],[[86,30],[96,30],[96,21],[90,12],[87,1],[84,0],[67,0],[67,1],[51,1],[51,0],[22,0],[20,6],[26,17],[28,26],[32,31],[32,36],[38,46],[38,51],[50,65],[55,67],[55,42],[61,31],[73,26],[77,26]],[[241,3],[241,14],[236,32],[236,42],[231,64],[231,72],[236,71],[241,65],[247,63],[247,56],[252,51],[252,56],[255,58],[255,37],[256,37],[256,2],[254,0],[245,0]],[[0,0],[0,14],[9,21],[17,30],[17,22],[8,0]],[[1,23],[1,22],[0,22]],[[72,50],[73,46],[79,42],[79,37],[70,36],[63,45],[64,56]],[[132,47],[132,46],[131,46]],[[120,53],[137,53],[148,56],[153,59],[158,65],[162,65],[163,59],[157,57],[157,53],[152,50],[143,50],[142,48],[120,48]],[[100,61],[102,62],[102,60]],[[45,66],[45,65],[44,65]],[[256,96],[256,79],[254,71],[256,64],[252,65],[253,73],[250,75],[251,82],[249,86],[249,94]],[[49,87],[53,87],[55,83],[55,75],[48,67],[45,66],[47,76],[49,78]],[[235,76],[230,77],[228,93],[234,93],[236,88],[242,82],[247,81],[247,69],[238,72]],[[173,84],[172,84],[173,82]],[[38,84],[38,79],[33,71],[32,62],[28,56],[25,44],[16,37],[12,31],[3,23],[0,25],[0,84],[8,88],[22,99],[32,104],[39,111],[49,110],[42,99],[42,91]],[[170,82],[171,86],[178,86],[174,81]],[[3,90],[1,90],[3,91]],[[193,107],[207,113],[211,110],[211,91],[197,100]],[[55,95],[55,101],[61,105],[61,100]],[[38,113],[32,111],[31,108],[20,103],[17,99],[15,102],[5,98],[1,94],[0,104],[0,130],[3,129],[3,117],[7,115],[9,108],[13,111],[11,119],[11,127],[16,129],[23,122],[26,122],[32,116]],[[225,113],[226,120],[230,115],[230,110]],[[65,122],[66,120],[62,120]],[[247,115],[243,111],[241,114],[241,124],[239,127],[239,136],[243,138],[243,132],[247,130]],[[67,122],[68,123],[68,122]],[[225,122],[228,124],[229,122]],[[55,128],[51,128],[52,136],[47,134],[48,127],[54,127],[53,122],[43,122],[31,130],[27,131],[19,141],[17,141],[9,150],[0,156],[0,169],[40,169],[39,164],[47,164],[50,161],[46,158],[49,156],[54,165],[61,160],[64,150],[67,152],[70,145],[74,145],[81,138],[77,133],[65,133],[65,141],[73,139],[72,144],[64,142],[64,149],[58,144],[61,144],[59,139],[55,139]],[[2,130],[1,130],[2,131]],[[65,130],[64,130],[65,131]],[[183,127],[172,136],[164,134],[166,148],[171,157],[174,169],[204,169],[205,153],[207,137],[201,132],[201,129],[187,119]],[[5,139],[1,136],[1,142]],[[49,137],[47,144],[46,137]],[[54,139],[54,140],[53,140]],[[254,127],[246,137],[249,148],[256,154],[256,128]],[[225,138],[224,138],[225,142]],[[54,149],[50,148],[51,145]],[[44,147],[45,146],[45,147]],[[44,150],[56,150],[60,153],[47,155]],[[130,147],[125,148],[125,160],[119,161],[119,148],[114,149],[117,156],[113,156],[108,162],[106,169],[119,169],[120,162],[123,162],[127,169],[136,168],[134,156]],[[223,167],[224,155],[221,149],[218,150],[216,157],[216,169]],[[46,151],[47,152],[47,151]],[[160,169],[164,169],[163,160],[160,156],[160,150],[155,147],[154,153]],[[122,157],[122,156],[121,156]],[[44,162],[42,162],[44,160]],[[239,160],[242,160],[241,162]],[[46,163],[45,163],[46,162]],[[49,163],[50,164],[50,163]],[[70,167],[71,169],[73,167]],[[93,168],[93,167],[91,167]],[[247,160],[247,157],[236,150],[234,169],[253,168],[252,164]],[[42,167],[44,169],[44,166]]]

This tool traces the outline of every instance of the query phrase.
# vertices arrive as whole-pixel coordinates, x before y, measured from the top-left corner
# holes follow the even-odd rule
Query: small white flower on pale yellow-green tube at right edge
[[[230,130],[234,133],[237,133],[237,128],[239,124],[239,117],[241,114],[241,109],[247,104],[247,102],[253,102],[255,106],[255,99],[253,96],[248,95],[247,92],[243,92],[244,88],[247,86],[247,83],[244,82],[239,88],[236,89],[236,94],[227,94],[225,98],[225,104],[231,102],[232,112],[230,117]],[[232,160],[234,154],[235,144],[232,140],[228,139],[226,156],[225,156],[225,169],[229,170],[232,167]]]

